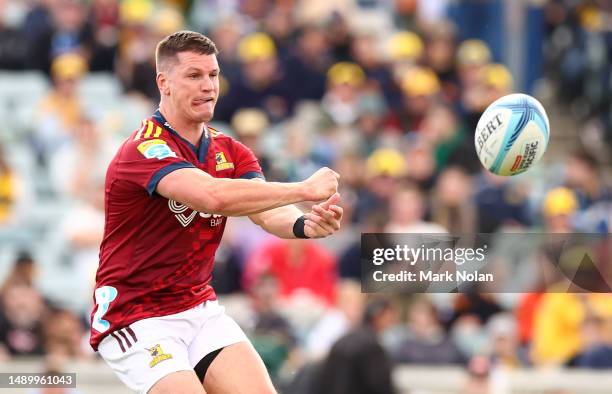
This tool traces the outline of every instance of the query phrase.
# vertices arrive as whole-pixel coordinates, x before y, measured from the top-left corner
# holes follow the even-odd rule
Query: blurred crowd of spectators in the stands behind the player
[[[0,371],[127,392],[87,344],[104,175],[156,108],[156,43],[185,28],[220,50],[213,126],[268,180],[342,176],[337,235],[231,218],[217,253],[217,293],[282,393],[610,392],[612,295],[543,288],[550,245],[499,237],[521,294],[359,285],[362,232],[610,233],[606,0],[0,0]],[[551,140],[501,178],[473,135],[512,92],[542,101]]]

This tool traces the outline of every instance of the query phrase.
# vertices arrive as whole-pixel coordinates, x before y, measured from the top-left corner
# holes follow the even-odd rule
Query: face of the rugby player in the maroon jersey
[[[170,101],[186,120],[208,122],[219,98],[219,64],[215,55],[180,52],[168,75]]]

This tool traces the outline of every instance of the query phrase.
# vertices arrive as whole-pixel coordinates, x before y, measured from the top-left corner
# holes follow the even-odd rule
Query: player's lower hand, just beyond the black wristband
[[[305,215],[304,234],[308,238],[327,237],[340,229],[343,210],[339,202],[340,194],[334,193],[326,201],[314,205]]]

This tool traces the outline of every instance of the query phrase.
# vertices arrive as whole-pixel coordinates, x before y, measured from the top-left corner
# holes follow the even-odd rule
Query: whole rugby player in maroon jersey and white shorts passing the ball
[[[282,238],[340,228],[339,175],[266,182],[253,153],[207,126],[219,97],[215,44],[180,31],[156,48],[159,109],[122,144],[105,184],[91,346],[142,393],[274,393],[211,287],[227,217]],[[294,203],[316,204],[303,214]]]

